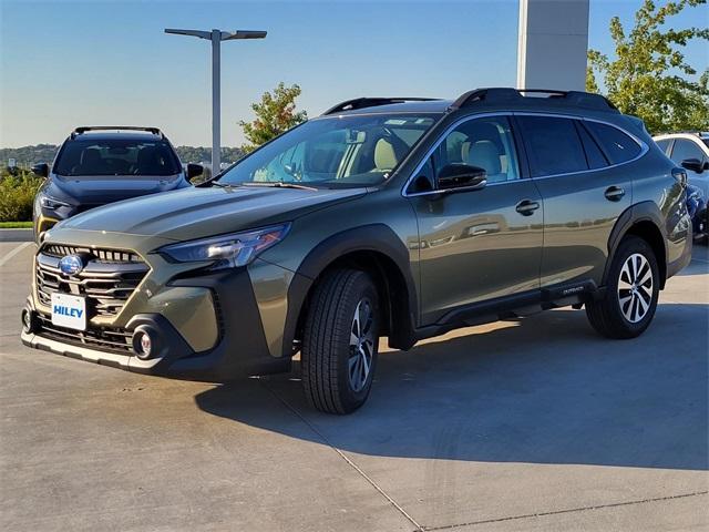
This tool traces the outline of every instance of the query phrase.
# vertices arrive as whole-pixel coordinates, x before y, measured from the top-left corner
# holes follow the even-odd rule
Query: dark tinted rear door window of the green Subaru
[[[533,176],[588,170],[574,122],[551,116],[520,116]]]

